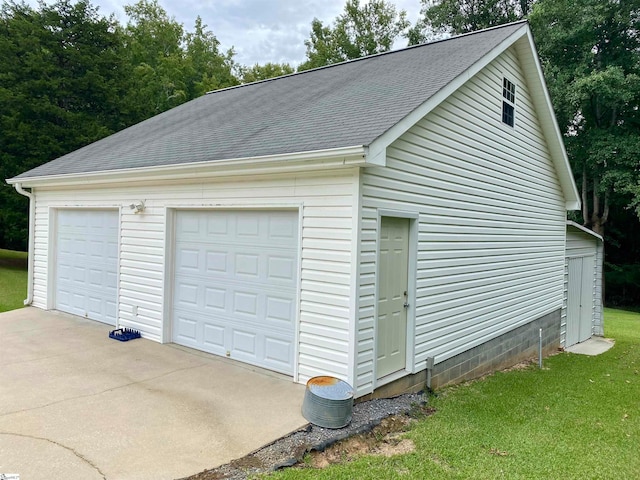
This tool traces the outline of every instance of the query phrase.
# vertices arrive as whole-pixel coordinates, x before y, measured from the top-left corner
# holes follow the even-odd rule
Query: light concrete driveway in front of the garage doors
[[[108,325],[24,308],[0,314],[0,473],[23,479],[175,479],[307,422],[304,386]]]

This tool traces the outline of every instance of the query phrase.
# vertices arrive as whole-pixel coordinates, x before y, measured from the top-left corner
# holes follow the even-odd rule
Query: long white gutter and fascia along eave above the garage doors
[[[111,184],[154,180],[175,180],[230,175],[257,175],[318,169],[364,166],[364,146],[341,147],[261,157],[232,158],[209,162],[125,168],[103,172],[81,172],[42,177],[9,178],[9,184],[25,187]]]

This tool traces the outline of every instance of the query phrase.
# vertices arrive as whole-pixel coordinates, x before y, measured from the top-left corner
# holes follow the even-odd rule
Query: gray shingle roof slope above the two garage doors
[[[521,27],[212,92],[15,179],[368,146]]]

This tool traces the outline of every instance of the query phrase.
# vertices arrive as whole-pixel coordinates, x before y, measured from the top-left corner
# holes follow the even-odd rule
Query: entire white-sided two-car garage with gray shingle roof
[[[356,397],[560,345],[579,196],[526,22],[212,92],[9,183],[39,308]]]

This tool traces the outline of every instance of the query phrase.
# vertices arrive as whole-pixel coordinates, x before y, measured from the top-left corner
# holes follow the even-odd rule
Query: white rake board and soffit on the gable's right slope
[[[521,59],[522,69],[529,79],[529,88],[532,91],[532,101],[536,111],[540,116],[542,131],[547,140],[551,159],[556,167],[560,186],[565,198],[565,208],[567,210],[579,210],[581,201],[578,187],[573,178],[569,157],[564,148],[562,132],[558,126],[549,90],[542,73],[542,66],[538,58],[535,42],[531,30],[527,28],[526,37],[516,43],[516,50]]]

